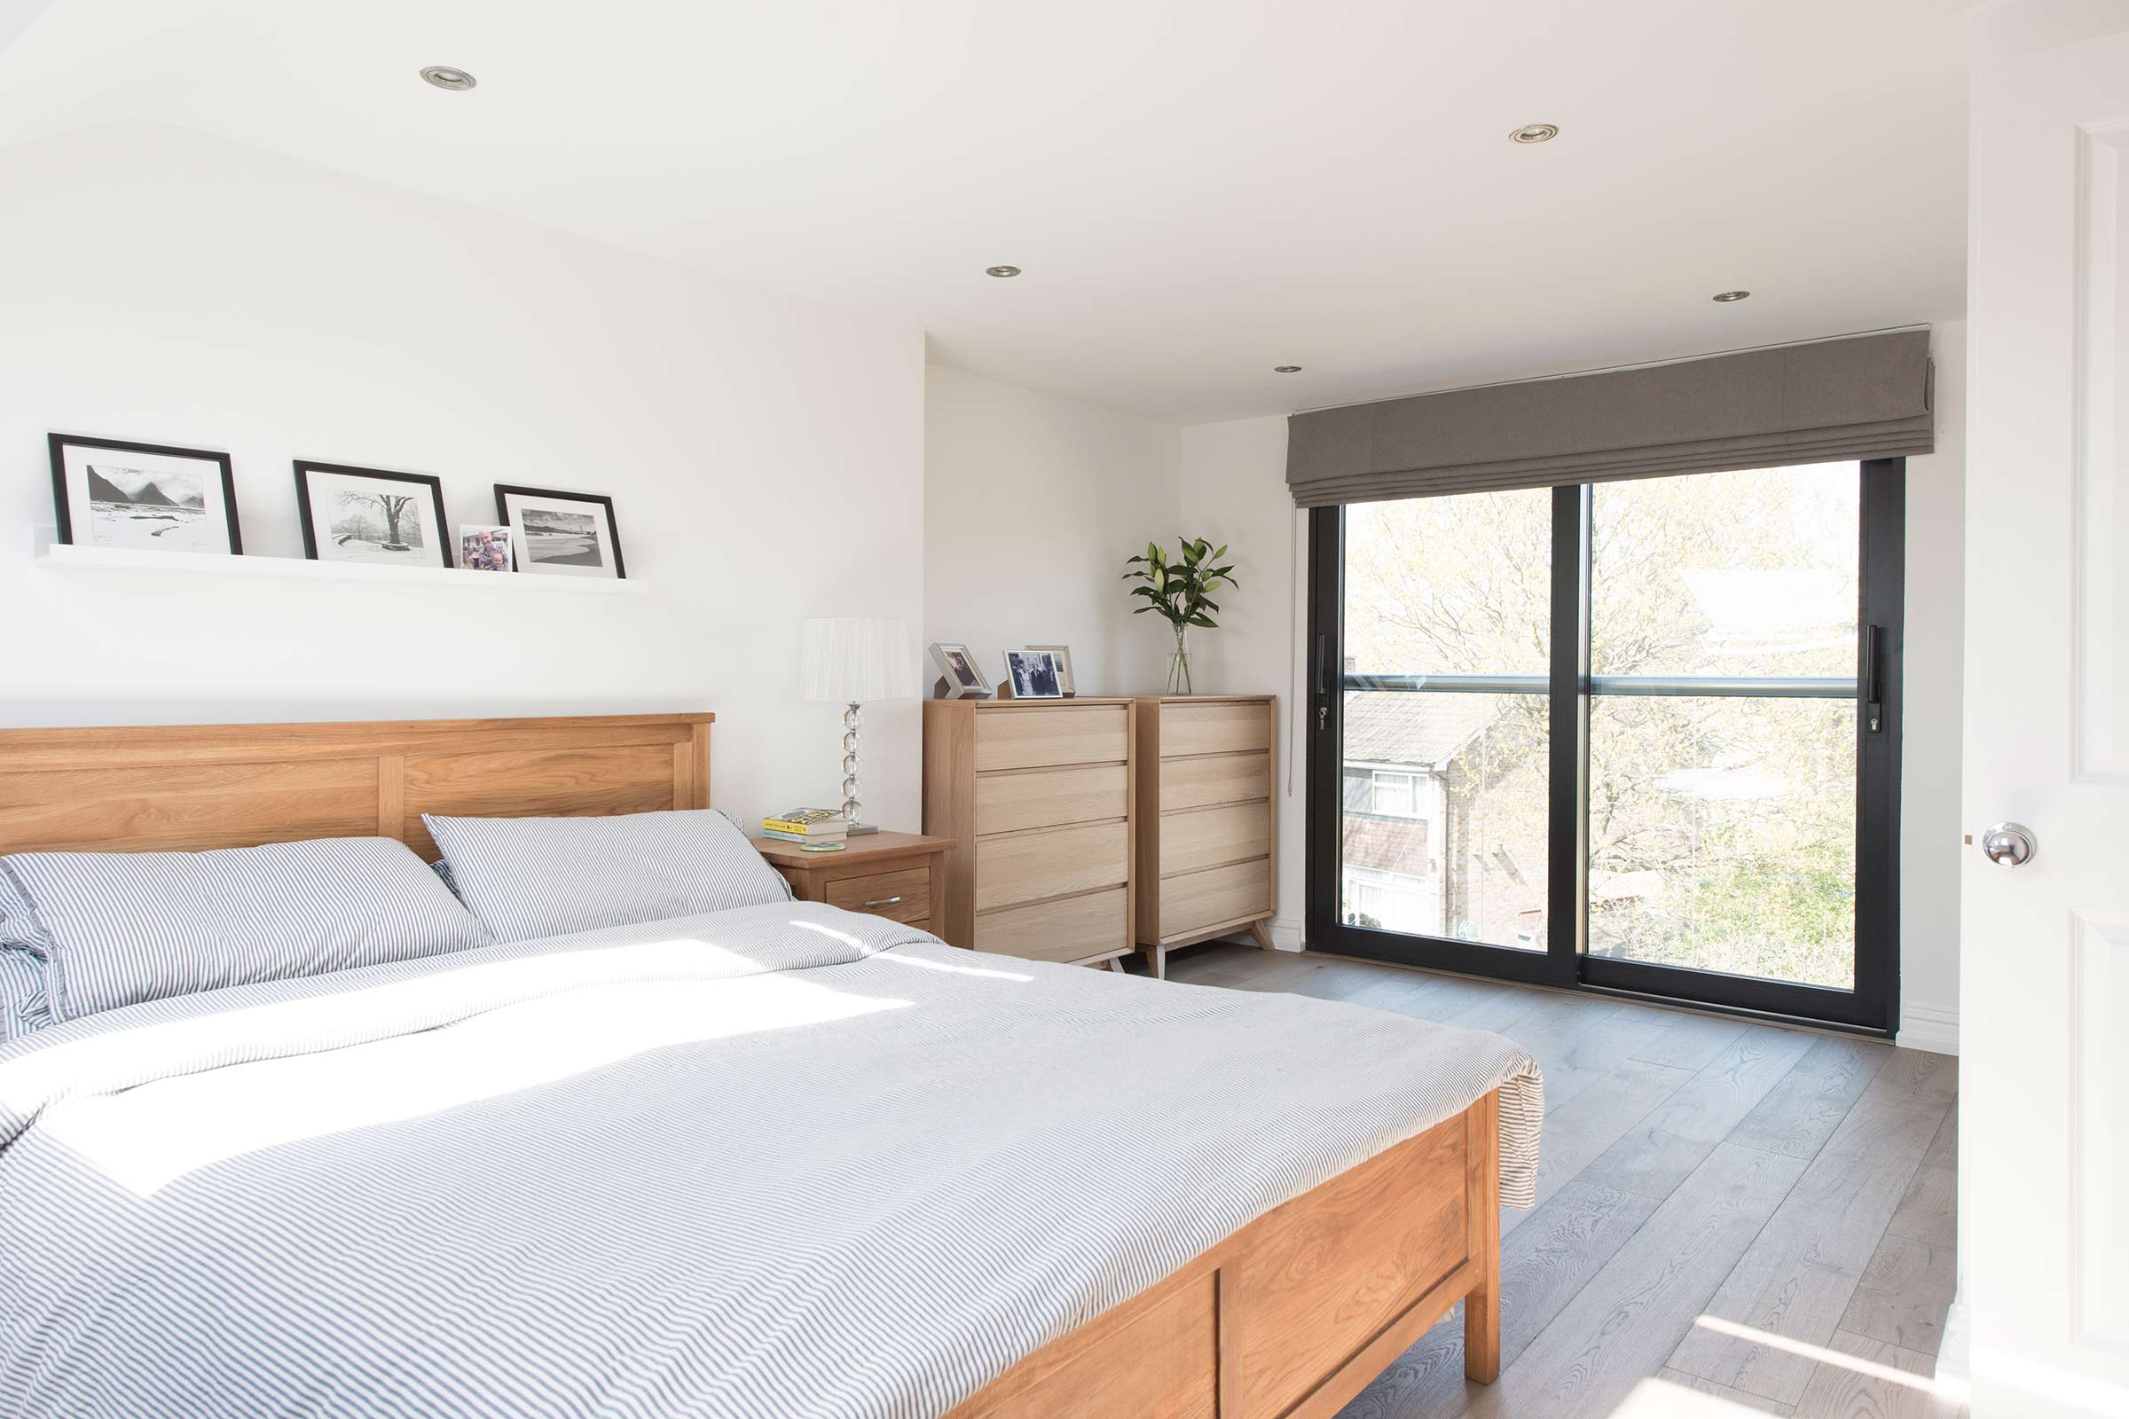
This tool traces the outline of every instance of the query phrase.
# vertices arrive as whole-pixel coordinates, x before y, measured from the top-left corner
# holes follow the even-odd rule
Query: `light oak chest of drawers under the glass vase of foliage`
[[[1167,974],[1173,947],[1248,930],[1271,949],[1277,906],[1280,702],[1141,698],[1137,719],[1137,938]]]

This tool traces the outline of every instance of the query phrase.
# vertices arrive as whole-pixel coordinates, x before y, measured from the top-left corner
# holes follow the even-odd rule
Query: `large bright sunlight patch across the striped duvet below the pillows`
[[[394,989],[407,985],[417,983]],[[47,1113],[43,1130],[147,1198],[258,1149],[500,1098],[669,1045],[801,1030],[907,1004],[783,974],[592,985],[447,1030],[77,1098]]]

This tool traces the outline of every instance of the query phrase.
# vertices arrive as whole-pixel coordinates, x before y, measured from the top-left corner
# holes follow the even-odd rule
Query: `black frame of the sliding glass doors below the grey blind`
[[[1899,1019],[1899,759],[1908,462],[1901,457],[1865,460],[1859,477],[1861,604],[1852,689],[1859,711],[1856,964],[1852,991],[1588,953],[1588,723],[1590,698],[1599,694],[1592,687],[1588,662],[1590,511],[1595,500],[1588,483],[1552,489],[1552,664],[1546,677],[1550,694],[1546,951],[1516,951],[1443,936],[1346,925],[1339,919],[1343,704],[1348,689],[1348,677],[1341,670],[1346,508],[1311,508],[1307,528],[1307,900],[1303,911],[1307,949],[1891,1036]],[[1367,679],[1367,687],[1382,687],[1380,677]],[[1661,694],[1680,694],[1680,689]],[[1799,694],[1812,691],[1801,687]]]

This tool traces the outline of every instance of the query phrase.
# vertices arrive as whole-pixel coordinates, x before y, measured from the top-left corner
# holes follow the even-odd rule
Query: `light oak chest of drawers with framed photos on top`
[[[933,932],[1122,970],[1133,738],[1130,700],[926,700],[924,832],[954,845]]]

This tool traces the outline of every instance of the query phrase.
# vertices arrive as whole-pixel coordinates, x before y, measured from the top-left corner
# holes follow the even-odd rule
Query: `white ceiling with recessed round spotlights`
[[[1961,0],[49,0],[0,143],[117,117],[1177,423],[1965,300]]]

